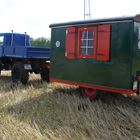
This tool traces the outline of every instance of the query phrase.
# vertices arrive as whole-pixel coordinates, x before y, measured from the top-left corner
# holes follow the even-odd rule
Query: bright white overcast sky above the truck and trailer
[[[90,0],[91,19],[140,14],[140,0]],[[50,38],[51,23],[84,19],[84,0],[0,0],[0,32]]]

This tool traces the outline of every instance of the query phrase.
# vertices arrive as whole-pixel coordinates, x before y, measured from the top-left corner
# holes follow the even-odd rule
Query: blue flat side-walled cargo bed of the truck
[[[25,46],[0,46],[0,57],[50,58],[50,48]]]

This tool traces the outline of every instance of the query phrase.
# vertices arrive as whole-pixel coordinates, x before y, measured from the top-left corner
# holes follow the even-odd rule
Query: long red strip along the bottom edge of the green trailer
[[[82,83],[77,83],[77,82],[59,80],[59,79],[54,79],[54,78],[50,78],[50,81],[51,82],[74,85],[74,86],[80,86],[80,87],[85,87],[85,88],[92,88],[92,89],[95,89],[95,90],[102,90],[102,91],[108,91],[108,92],[114,92],[114,93],[120,93],[120,94],[127,94],[127,95],[136,93],[136,91],[133,91],[133,90],[109,88],[109,87],[102,87],[102,86],[92,86],[92,85],[88,85],[88,84],[82,84]]]

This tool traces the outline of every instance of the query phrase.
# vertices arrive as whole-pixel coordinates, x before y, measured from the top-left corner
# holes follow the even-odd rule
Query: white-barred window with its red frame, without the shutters
[[[96,28],[79,28],[78,57],[94,58],[96,54]]]

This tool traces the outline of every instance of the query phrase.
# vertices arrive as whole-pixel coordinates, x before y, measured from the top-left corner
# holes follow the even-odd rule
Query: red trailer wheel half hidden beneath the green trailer
[[[91,88],[80,87],[80,92],[83,97],[89,98],[90,100],[95,99],[97,96],[97,91]]]

